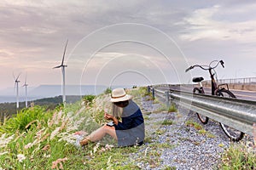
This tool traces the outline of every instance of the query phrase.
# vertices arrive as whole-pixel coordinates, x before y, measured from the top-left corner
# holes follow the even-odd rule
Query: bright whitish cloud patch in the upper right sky
[[[255,7],[256,3],[251,5]],[[232,14],[230,14],[231,11]],[[196,9],[190,16],[185,17],[182,23],[177,23],[177,25],[187,26],[186,33],[180,37],[184,41],[208,38],[255,42],[253,35],[256,34],[256,21],[250,17],[247,20],[235,20],[234,18],[241,17],[241,13],[255,15],[255,10],[248,4],[245,4],[244,8],[214,5],[210,8]]]

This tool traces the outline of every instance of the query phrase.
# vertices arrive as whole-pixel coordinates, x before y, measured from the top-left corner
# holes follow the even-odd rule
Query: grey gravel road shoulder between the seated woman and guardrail
[[[155,150],[158,161],[137,161],[142,169],[218,169],[221,154],[230,146],[230,140],[224,134],[218,122],[210,120],[202,125],[194,112],[179,107],[177,112],[160,111],[162,105],[143,98],[141,108],[144,113],[146,135],[150,141],[142,146],[141,154]],[[173,122],[163,125],[167,122]],[[198,123],[195,127],[191,123]],[[241,142],[253,143],[246,135]],[[166,145],[167,144],[167,145]],[[154,146],[158,146],[155,148]],[[139,154],[132,154],[134,160]],[[152,159],[155,159],[152,156]]]

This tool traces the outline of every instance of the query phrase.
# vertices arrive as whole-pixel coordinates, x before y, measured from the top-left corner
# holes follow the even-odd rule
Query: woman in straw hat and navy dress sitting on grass
[[[113,125],[105,124],[96,131],[90,133],[80,141],[83,146],[89,142],[101,140],[106,134],[117,140],[118,146],[141,145],[145,138],[145,128],[143,114],[136,103],[132,101],[132,96],[125,93],[124,88],[113,89],[110,101],[113,105],[122,108],[121,119],[118,119],[105,112],[104,118],[112,120]],[[76,133],[76,134],[79,134]]]

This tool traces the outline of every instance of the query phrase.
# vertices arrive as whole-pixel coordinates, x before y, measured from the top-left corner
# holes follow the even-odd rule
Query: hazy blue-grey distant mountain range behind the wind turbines
[[[128,88],[125,86],[115,86],[111,88]],[[102,94],[108,87],[104,85],[66,85],[66,95],[97,95]],[[131,87],[129,87],[131,88]],[[19,88],[19,100],[25,100],[25,88]],[[61,95],[61,85],[40,85],[38,87],[27,88],[28,100],[44,99]],[[6,88],[0,90],[0,103],[15,102],[15,88]]]

